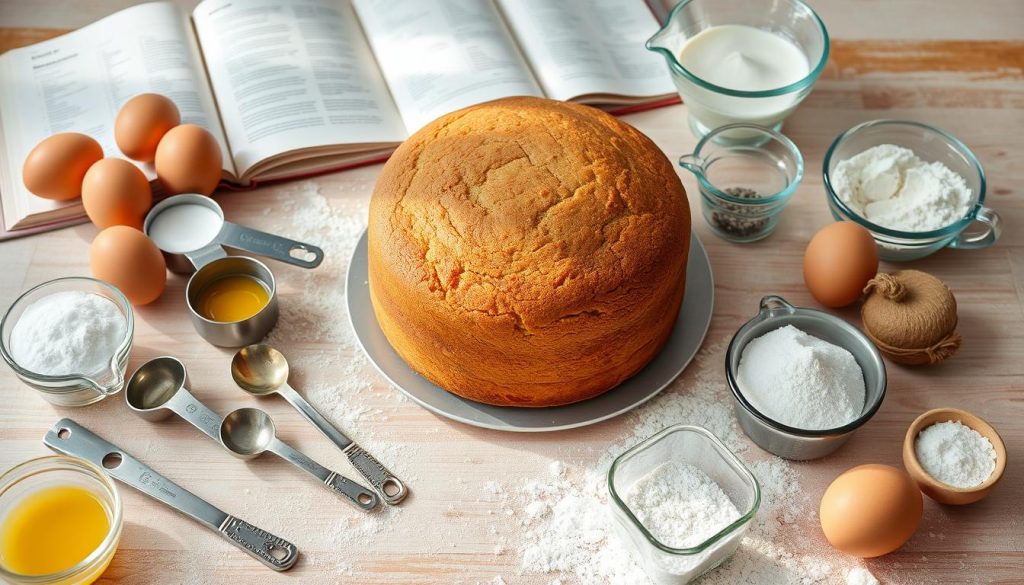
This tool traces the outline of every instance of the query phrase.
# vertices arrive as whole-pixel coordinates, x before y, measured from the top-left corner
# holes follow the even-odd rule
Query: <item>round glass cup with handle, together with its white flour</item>
[[[984,206],[981,164],[938,128],[864,122],[836,138],[822,172],[833,216],[866,227],[885,260],[985,248],[999,237],[999,216]]]

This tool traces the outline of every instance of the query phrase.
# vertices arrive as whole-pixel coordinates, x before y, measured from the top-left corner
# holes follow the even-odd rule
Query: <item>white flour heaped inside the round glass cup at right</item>
[[[840,161],[830,174],[843,203],[871,223],[929,232],[967,214],[972,192],[940,162],[926,163],[903,147],[879,144]]]

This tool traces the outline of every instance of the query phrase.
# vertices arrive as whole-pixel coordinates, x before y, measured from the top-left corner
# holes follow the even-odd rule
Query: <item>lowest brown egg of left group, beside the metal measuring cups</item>
[[[127,225],[112,225],[96,235],[89,266],[92,276],[121,289],[132,304],[157,300],[167,284],[167,264],[157,245]]]

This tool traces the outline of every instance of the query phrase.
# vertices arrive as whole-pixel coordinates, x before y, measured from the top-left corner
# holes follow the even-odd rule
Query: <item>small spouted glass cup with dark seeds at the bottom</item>
[[[752,144],[722,143],[721,133],[757,136]],[[782,208],[804,178],[793,140],[763,126],[730,124],[711,131],[679,165],[697,177],[700,209],[711,231],[730,242],[756,242],[778,225]]]

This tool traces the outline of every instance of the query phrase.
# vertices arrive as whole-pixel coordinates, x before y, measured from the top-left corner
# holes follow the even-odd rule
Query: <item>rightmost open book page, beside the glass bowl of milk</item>
[[[654,96],[676,89],[644,42],[658,24],[643,0],[497,0],[545,93]]]

